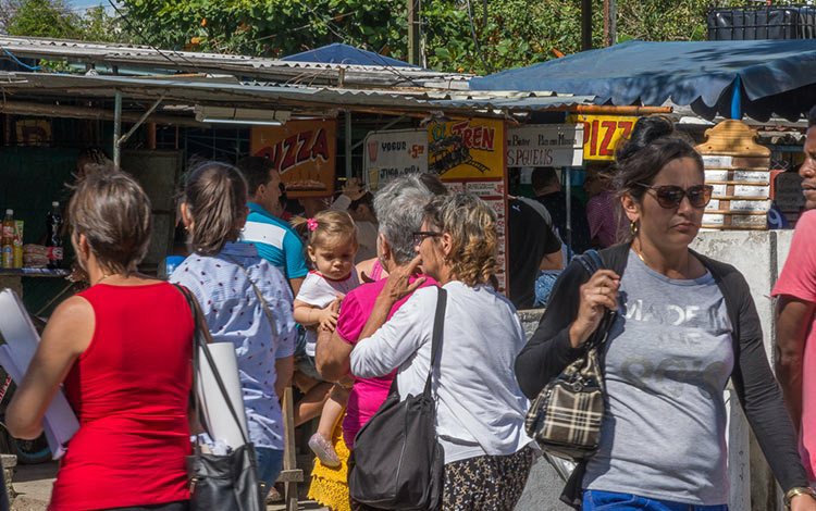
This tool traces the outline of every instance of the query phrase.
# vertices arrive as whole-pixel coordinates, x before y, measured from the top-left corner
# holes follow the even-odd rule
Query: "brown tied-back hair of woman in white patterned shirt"
[[[196,253],[219,253],[240,235],[247,214],[247,182],[232,165],[205,162],[190,172],[184,187],[193,227],[190,245]]]

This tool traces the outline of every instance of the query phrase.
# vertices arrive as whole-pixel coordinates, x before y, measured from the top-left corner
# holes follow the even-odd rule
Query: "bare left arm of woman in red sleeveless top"
[[[54,310],[7,410],[12,436],[34,439],[42,433],[46,410],[74,361],[90,345],[94,329],[94,308],[84,298],[69,298]]]

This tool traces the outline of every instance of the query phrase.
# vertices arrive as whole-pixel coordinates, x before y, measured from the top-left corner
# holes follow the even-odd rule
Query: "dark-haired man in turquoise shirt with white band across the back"
[[[238,169],[249,185],[249,216],[240,240],[254,244],[261,258],[279,267],[297,296],[309,269],[300,237],[288,223],[272,214],[280,209],[281,175],[262,157],[244,158],[238,161]]]

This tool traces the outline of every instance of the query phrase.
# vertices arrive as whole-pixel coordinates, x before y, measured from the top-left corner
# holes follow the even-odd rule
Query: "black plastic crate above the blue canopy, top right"
[[[786,5],[714,9],[708,40],[814,39],[816,7]]]

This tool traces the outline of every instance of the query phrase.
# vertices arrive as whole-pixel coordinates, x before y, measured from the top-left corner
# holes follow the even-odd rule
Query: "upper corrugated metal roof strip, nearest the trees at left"
[[[467,88],[470,75],[383,65],[323,64],[248,55],[162,50],[112,45],[0,36],[0,48],[17,58],[64,59],[69,62],[195,73],[232,73],[258,79],[351,86]]]

